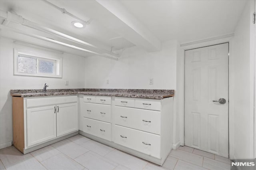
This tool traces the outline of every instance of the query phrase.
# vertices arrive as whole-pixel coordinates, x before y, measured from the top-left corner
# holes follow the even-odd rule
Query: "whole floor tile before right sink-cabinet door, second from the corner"
[[[71,141],[55,144],[55,145],[52,145],[52,146],[54,146],[60,152],[66,154],[67,156],[69,156],[72,159],[74,159],[74,158],[76,158],[76,157],[78,157],[78,156],[80,156],[80,155],[89,151],[88,149],[80,146],[79,144],[71,142]]]

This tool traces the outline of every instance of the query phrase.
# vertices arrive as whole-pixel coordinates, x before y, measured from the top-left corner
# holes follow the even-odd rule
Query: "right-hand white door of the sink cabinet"
[[[78,130],[77,103],[57,105],[57,136]]]

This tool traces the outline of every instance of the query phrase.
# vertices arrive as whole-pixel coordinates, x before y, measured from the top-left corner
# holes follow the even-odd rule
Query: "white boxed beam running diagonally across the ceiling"
[[[98,17],[104,26],[113,30],[126,40],[143,47],[146,51],[161,50],[161,42],[120,1],[96,0],[108,10],[108,17]]]

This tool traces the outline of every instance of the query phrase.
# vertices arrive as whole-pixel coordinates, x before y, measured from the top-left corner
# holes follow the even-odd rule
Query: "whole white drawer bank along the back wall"
[[[81,134],[156,164],[164,163],[172,149],[173,97],[111,100],[84,95],[80,104]]]

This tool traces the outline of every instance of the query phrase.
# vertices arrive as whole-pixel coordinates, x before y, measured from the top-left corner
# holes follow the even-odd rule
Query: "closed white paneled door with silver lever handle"
[[[228,157],[228,43],[185,51],[185,145]]]

